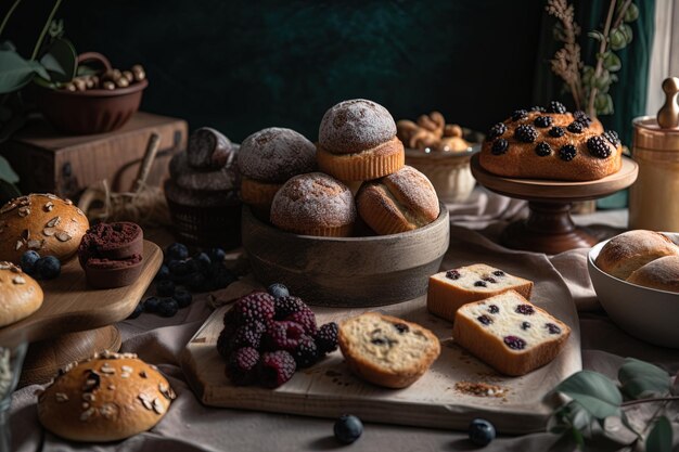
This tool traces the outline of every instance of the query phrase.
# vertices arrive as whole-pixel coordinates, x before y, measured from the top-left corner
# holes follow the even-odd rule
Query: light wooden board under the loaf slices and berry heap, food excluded
[[[229,307],[216,310],[189,341],[181,358],[182,367],[206,405],[333,418],[351,413],[363,421],[445,429],[466,429],[472,418],[482,416],[502,432],[543,430],[551,412],[546,396],[582,366],[577,312],[571,300],[540,300],[534,295],[531,300],[568,324],[573,334],[554,361],[522,377],[499,375],[458,347],[451,339],[452,324],[430,314],[425,300],[423,296],[373,308],[420,323],[441,340],[438,360],[422,378],[405,389],[385,389],[358,379],[348,371],[340,351],[296,372],[290,382],[273,390],[233,386],[225,376],[225,361],[216,350]],[[319,325],[369,310],[311,308]],[[505,389],[505,397],[465,395],[456,389],[460,382],[498,385]]]

